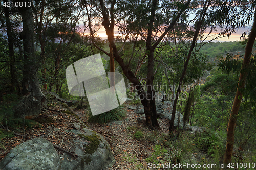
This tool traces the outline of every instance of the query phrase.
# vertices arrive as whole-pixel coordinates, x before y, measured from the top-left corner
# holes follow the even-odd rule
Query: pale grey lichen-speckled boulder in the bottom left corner
[[[53,145],[35,138],[13,148],[0,162],[3,170],[59,169],[60,158]]]

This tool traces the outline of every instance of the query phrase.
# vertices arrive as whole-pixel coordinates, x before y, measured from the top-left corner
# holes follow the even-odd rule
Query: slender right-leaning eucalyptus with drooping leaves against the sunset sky
[[[198,7],[199,18],[196,19],[193,27],[190,27],[190,33],[193,35],[190,49],[184,64],[183,72],[179,80],[176,97],[173,104],[172,119],[170,121],[169,133],[173,131],[173,123],[176,112],[176,105],[181,85],[184,81],[189,59],[200,47],[220,36],[231,36],[239,28],[245,27],[250,21],[251,11],[247,8],[248,2],[240,1],[205,1],[202,8]],[[207,36],[203,36],[207,33]],[[216,37],[207,41],[206,38],[211,34],[216,34]],[[201,43],[196,42],[200,40]],[[194,49],[195,48],[195,49]]]

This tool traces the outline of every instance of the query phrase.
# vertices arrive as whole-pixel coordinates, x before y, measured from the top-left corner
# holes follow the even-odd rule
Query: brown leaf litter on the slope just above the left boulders
[[[43,137],[46,140],[59,145],[59,147],[70,150],[73,146],[73,140],[81,140],[81,137],[74,135],[72,132],[67,132],[69,129],[73,129],[72,125],[77,118],[74,115],[67,115],[60,112],[61,106],[51,107],[45,109],[41,115],[36,118],[36,121],[40,122],[39,126],[35,126],[31,129],[26,127],[25,141]],[[48,121],[49,120],[49,121]],[[65,122],[65,124],[63,124]],[[2,139],[0,141],[0,160],[2,160],[11,149],[23,143],[22,127],[16,129],[18,136],[12,138]],[[60,154],[60,152],[58,151]]]

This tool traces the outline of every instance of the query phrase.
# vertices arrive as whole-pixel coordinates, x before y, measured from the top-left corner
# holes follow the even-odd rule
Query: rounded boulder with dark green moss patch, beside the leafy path
[[[110,145],[97,132],[83,128],[83,132],[75,129],[66,130],[82,137],[82,140],[75,141],[75,147],[71,149],[79,157],[71,162],[70,155],[65,154],[61,163],[61,170],[68,169],[104,169],[111,166],[115,159],[112,155]]]

